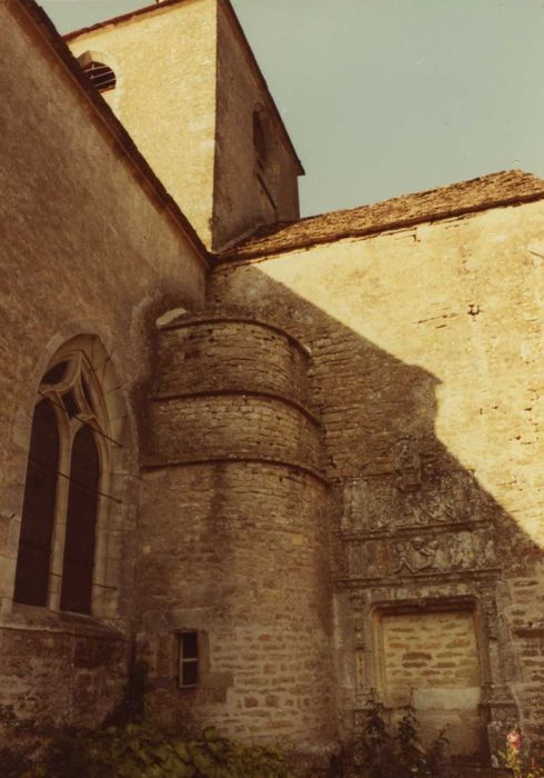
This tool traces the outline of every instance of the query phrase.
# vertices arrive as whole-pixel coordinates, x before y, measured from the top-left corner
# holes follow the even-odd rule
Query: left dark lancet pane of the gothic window
[[[17,557],[16,602],[47,605],[54,521],[59,431],[48,400],[34,409]]]

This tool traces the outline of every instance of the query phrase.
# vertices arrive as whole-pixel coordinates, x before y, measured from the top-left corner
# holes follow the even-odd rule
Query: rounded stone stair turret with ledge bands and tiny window
[[[330,542],[309,355],[280,328],[182,316],[160,332],[138,569],[149,701],[243,739],[334,731]]]

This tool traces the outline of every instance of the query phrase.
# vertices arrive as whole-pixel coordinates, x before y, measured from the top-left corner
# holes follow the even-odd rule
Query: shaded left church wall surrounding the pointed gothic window
[[[133,398],[150,370],[151,325],[173,305],[201,305],[205,263],[122,130],[52,48],[47,21],[2,2],[0,38],[0,701],[90,724],[124,679],[139,485]],[[118,501],[104,551],[112,577],[100,620],[12,604],[33,407],[49,361],[72,338],[89,345],[119,408]]]

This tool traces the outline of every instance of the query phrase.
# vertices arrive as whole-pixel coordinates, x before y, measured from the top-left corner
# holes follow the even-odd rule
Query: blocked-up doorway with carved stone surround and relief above
[[[345,481],[342,506],[336,581],[356,614],[355,718],[375,694],[394,716],[406,701],[397,680],[419,674],[411,686],[430,722],[442,706],[467,720],[460,751],[476,749],[482,728],[493,746],[484,721],[515,716],[498,637],[497,506],[435,439],[415,438]]]

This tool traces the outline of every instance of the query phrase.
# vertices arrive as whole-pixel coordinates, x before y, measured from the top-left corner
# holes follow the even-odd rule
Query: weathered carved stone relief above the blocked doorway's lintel
[[[493,503],[473,476],[403,439],[379,473],[344,485],[342,577],[389,578],[496,566]],[[447,466],[450,469],[446,469]]]

